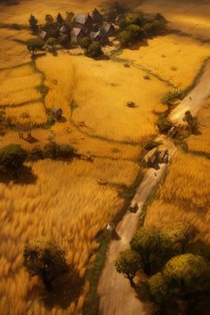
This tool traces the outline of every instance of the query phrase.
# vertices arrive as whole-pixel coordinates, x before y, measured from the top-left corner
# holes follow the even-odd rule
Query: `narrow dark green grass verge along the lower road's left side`
[[[112,222],[117,225],[125,215],[131,200],[135,195],[136,188],[139,186],[142,180],[143,174],[140,172],[133,185],[120,193],[120,197],[124,198],[124,206],[120,212],[114,217]],[[106,253],[111,240],[108,230],[101,231],[101,234],[96,238],[96,241],[100,244],[99,249],[96,252],[96,259],[93,264],[93,268],[86,271],[85,278],[90,282],[90,291],[86,297],[83,314],[84,315],[96,315],[99,308],[99,296],[97,294],[97,286],[101,277],[101,271],[106,262]]]

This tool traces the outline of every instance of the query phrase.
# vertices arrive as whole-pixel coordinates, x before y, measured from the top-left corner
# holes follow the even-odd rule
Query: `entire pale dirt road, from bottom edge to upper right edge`
[[[192,88],[185,99],[172,112],[172,117],[175,117],[174,122],[182,120],[183,110],[191,110],[194,114],[198,112],[210,95],[210,62],[206,65],[206,69],[198,79],[197,85]],[[190,102],[189,98],[194,98]],[[175,114],[174,114],[175,113]],[[161,138],[161,137],[160,137]],[[160,139],[157,139],[158,141]],[[170,159],[176,153],[174,143],[162,137],[164,148],[168,149]],[[158,185],[158,182],[166,174],[166,165],[160,165],[157,171],[150,168],[136,191],[133,201],[138,203],[139,210],[141,209],[149,194]],[[122,275],[118,274],[115,269],[115,260],[117,254],[129,247],[129,243],[133,238],[133,234],[137,228],[138,215],[126,212],[124,218],[117,225],[117,234],[119,240],[112,240],[109,244],[107,252],[107,261],[101,273],[101,279],[98,284],[98,295],[100,296],[100,315],[150,315],[152,308],[147,301],[141,301],[135,294],[135,291],[130,286],[130,283]]]

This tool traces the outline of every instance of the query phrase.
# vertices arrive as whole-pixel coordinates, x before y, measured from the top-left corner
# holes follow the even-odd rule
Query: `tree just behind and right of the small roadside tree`
[[[162,259],[168,254],[168,244],[166,238],[155,227],[141,227],[137,230],[131,241],[131,247],[141,255],[143,270],[146,274],[151,273],[151,265],[158,263],[158,258]]]

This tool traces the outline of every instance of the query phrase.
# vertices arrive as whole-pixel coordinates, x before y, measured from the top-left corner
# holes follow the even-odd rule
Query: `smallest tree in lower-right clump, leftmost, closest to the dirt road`
[[[122,273],[126,279],[129,279],[131,286],[134,287],[133,278],[142,266],[140,255],[131,249],[126,249],[118,254],[115,266],[117,272]]]

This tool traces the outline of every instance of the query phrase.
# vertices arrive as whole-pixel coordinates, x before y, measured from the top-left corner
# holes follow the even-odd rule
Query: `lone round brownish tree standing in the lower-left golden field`
[[[23,252],[23,265],[30,276],[43,280],[47,290],[52,288],[54,279],[68,272],[64,251],[54,240],[46,237],[28,242]]]

